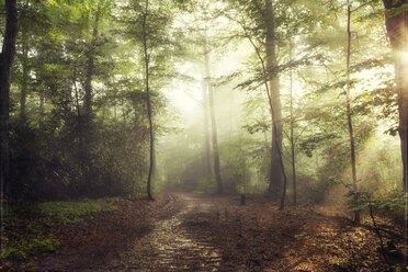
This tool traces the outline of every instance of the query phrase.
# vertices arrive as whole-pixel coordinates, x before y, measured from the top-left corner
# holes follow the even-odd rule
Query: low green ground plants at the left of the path
[[[82,222],[102,212],[115,211],[118,199],[54,201],[34,205],[9,206],[4,213],[0,262],[24,260],[31,254],[47,253],[61,245],[46,234],[48,227],[67,226]]]

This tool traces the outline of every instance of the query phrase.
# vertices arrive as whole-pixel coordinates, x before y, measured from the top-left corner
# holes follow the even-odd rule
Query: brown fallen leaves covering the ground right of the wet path
[[[185,215],[184,227],[200,239],[205,233],[220,249],[223,270],[231,271],[387,271],[377,251],[378,238],[370,222],[354,226],[350,219],[327,216],[310,208],[277,206],[251,197],[203,197],[205,212]],[[383,220],[384,223],[384,220]],[[388,228],[398,233],[395,226]],[[390,237],[403,248],[401,236]],[[404,251],[404,250],[403,250]],[[388,261],[393,265],[398,260]]]

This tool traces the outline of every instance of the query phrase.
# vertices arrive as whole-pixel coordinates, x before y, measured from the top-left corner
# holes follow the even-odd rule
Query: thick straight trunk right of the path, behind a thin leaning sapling
[[[270,75],[269,86],[272,114],[272,148],[271,148],[271,167],[269,193],[272,196],[280,195],[282,191],[282,169],[280,166],[279,150],[282,150],[282,105],[280,95],[280,80],[277,75],[272,75],[273,69],[277,66],[275,53],[275,23],[271,0],[265,0],[265,23],[267,23],[267,71]]]

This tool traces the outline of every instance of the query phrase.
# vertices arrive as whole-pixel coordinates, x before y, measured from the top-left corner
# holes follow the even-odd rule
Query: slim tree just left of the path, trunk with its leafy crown
[[[136,45],[137,65],[141,66],[141,78],[149,127],[149,170],[146,182],[147,196],[152,200],[151,182],[155,170],[155,137],[159,125],[155,124],[155,106],[160,89],[173,77],[170,61],[179,50],[179,45],[172,39],[170,25],[172,22],[171,1],[138,1],[128,2],[122,14],[124,34]],[[136,76],[136,75],[134,75]],[[138,76],[136,76],[138,77]]]

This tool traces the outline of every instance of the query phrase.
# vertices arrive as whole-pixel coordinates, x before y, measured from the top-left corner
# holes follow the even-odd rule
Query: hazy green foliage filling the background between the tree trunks
[[[237,55],[245,68],[223,75],[223,80],[214,79],[220,82],[214,84],[216,97],[224,95],[216,107],[227,192],[263,192],[268,185],[272,126],[263,84],[279,76],[287,136],[283,158],[290,169],[287,138],[293,125],[299,199],[321,203],[336,184],[351,180],[344,113],[349,89],[359,186],[364,191],[371,188],[377,192],[373,199],[388,203],[372,205],[401,214],[400,197],[399,202],[388,199],[390,192],[401,190],[397,185],[401,179],[397,174],[401,170],[397,167],[399,147],[395,138],[383,139],[378,134],[398,134],[398,95],[389,69],[393,58],[384,35],[382,2],[351,1],[349,71],[344,59],[345,2],[272,2],[277,63],[270,70],[262,67],[267,55],[264,0],[151,0],[147,13],[146,2],[138,0],[19,2],[21,31],[10,103],[10,201],[141,194],[149,147],[145,57],[150,68],[155,136],[159,138],[172,132],[171,126],[181,126],[174,125],[160,92],[174,77],[194,82],[196,75],[181,75],[179,60],[201,66],[206,29],[217,63],[224,64],[218,60],[230,49],[245,52]],[[390,9],[386,15],[405,10],[405,5]],[[219,23],[223,21],[228,24],[225,30],[220,30],[226,25]],[[189,59],[180,59],[184,54]],[[237,94],[234,87],[246,92]],[[21,117],[23,90],[25,118]],[[228,104],[234,99],[237,102]],[[294,112],[288,117],[292,102]],[[227,104],[237,110],[226,113]],[[234,117],[227,114],[236,120],[228,123],[226,120]],[[194,118],[196,122],[201,116]],[[155,170],[157,180],[167,183],[163,188],[214,191],[199,123],[160,145]],[[389,148],[388,143],[393,144]],[[355,197],[361,203],[354,202],[350,208],[365,208],[370,203],[363,194]],[[45,211],[44,216],[66,223],[77,220],[88,213],[84,211],[109,211],[101,203],[93,207],[82,204],[55,202],[55,209],[50,204],[38,208]]]

